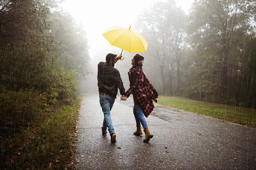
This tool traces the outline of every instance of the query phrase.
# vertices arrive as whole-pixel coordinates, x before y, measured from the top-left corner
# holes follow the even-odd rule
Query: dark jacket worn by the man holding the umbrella
[[[98,87],[100,93],[105,93],[114,98],[117,96],[118,89],[121,95],[125,93],[119,71],[106,62],[98,64]]]

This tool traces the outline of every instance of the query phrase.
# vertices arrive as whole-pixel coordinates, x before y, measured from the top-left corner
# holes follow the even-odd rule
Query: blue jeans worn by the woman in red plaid
[[[134,117],[135,117],[135,120],[136,120],[136,125],[140,126],[140,123],[141,123],[143,128],[148,127],[147,126],[147,121],[146,121],[146,119],[144,117],[144,114],[143,114],[143,110],[140,107],[140,105],[136,102],[134,96],[133,96],[133,102],[134,102],[133,114],[134,114]]]

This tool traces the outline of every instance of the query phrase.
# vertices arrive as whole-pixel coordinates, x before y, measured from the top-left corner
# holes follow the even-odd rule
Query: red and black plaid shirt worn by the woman
[[[152,100],[157,102],[158,93],[143,73],[142,65],[132,67],[128,72],[128,76],[130,88],[124,95],[129,97],[132,93],[137,103],[141,106],[145,117],[148,117],[154,109]]]

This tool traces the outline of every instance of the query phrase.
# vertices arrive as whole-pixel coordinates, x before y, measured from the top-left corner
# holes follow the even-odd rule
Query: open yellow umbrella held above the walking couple
[[[130,53],[146,52],[147,42],[139,33],[130,28],[111,27],[102,34],[112,46],[119,47]],[[123,53],[121,52],[121,55]]]

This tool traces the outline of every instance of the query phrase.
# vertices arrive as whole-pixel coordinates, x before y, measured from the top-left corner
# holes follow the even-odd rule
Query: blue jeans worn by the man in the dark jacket
[[[114,132],[114,127],[110,117],[110,111],[114,103],[115,103],[114,97],[111,97],[108,95],[100,95],[100,104],[102,107],[102,112],[104,113],[102,132],[105,132],[107,130],[107,127],[109,129],[110,134]]]

